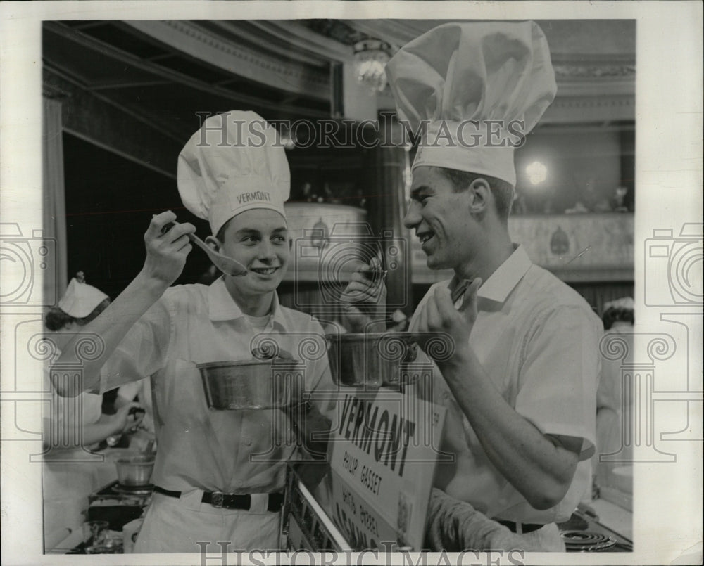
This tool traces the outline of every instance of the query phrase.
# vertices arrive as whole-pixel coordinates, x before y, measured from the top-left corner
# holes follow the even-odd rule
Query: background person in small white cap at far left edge
[[[108,304],[108,295],[88,285],[79,271],[57,306],[51,307],[44,316],[44,324],[49,330],[46,340],[54,345],[55,356],[61,354],[61,349],[76,330],[95,319]],[[47,390],[51,390],[49,364],[44,373]],[[103,415],[102,403],[102,395],[82,393],[80,397],[70,399],[55,395],[51,404],[44,406],[42,439],[46,454],[42,487],[44,546],[47,550],[54,548],[70,530],[80,528],[84,521],[82,513],[88,506],[88,495],[101,487],[94,465],[70,461],[82,455],[79,443],[90,449],[111,435],[124,434],[142,421],[142,415],[129,414],[132,407],[140,406],[137,403],[125,404],[114,415]],[[58,448],[67,440],[73,448]]]

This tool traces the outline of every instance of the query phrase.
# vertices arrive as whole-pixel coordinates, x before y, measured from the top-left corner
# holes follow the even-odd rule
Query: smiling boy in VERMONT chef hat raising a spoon
[[[144,236],[144,268],[87,327],[103,338],[105,354],[84,366],[84,387],[99,381],[106,390],[149,375],[153,382],[156,487],[136,553],[220,551],[219,541],[230,550],[279,548],[285,465],[296,447],[290,434],[273,439],[287,420],[277,410],[208,410],[196,364],[251,360],[260,333],[294,353],[302,337],[322,336],[316,321],[282,307],[276,293],[289,263],[289,184],[284,148],[261,117],[208,118],[179,156],[179,191],[191,212],[208,219],[208,243],[247,273],[170,288],[195,228],[168,229],[176,215],[163,212]],[[304,361],[306,390],[332,383],[325,356]]]

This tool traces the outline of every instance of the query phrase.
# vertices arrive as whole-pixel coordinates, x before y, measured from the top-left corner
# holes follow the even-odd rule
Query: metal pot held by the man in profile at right
[[[417,356],[413,333],[328,334],[332,380],[347,387],[398,387]]]

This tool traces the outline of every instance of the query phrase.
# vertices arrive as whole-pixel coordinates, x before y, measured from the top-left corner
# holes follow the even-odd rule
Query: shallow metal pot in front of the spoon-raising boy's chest
[[[303,394],[304,366],[295,360],[197,364],[210,409],[281,409]]]

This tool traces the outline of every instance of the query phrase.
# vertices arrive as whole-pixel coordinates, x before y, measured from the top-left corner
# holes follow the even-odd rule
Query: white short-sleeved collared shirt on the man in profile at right
[[[416,314],[439,285],[448,282],[433,285]],[[457,456],[456,465],[440,466],[439,477],[451,478],[444,490],[489,517],[541,524],[566,520],[591,482],[601,321],[577,292],[534,265],[520,246],[477,297],[470,345],[498,391],[543,435],[582,438],[582,454],[565,499],[536,510],[489,461],[446,382],[434,380],[434,401],[448,409],[444,448]],[[410,328],[414,324],[415,316]]]

